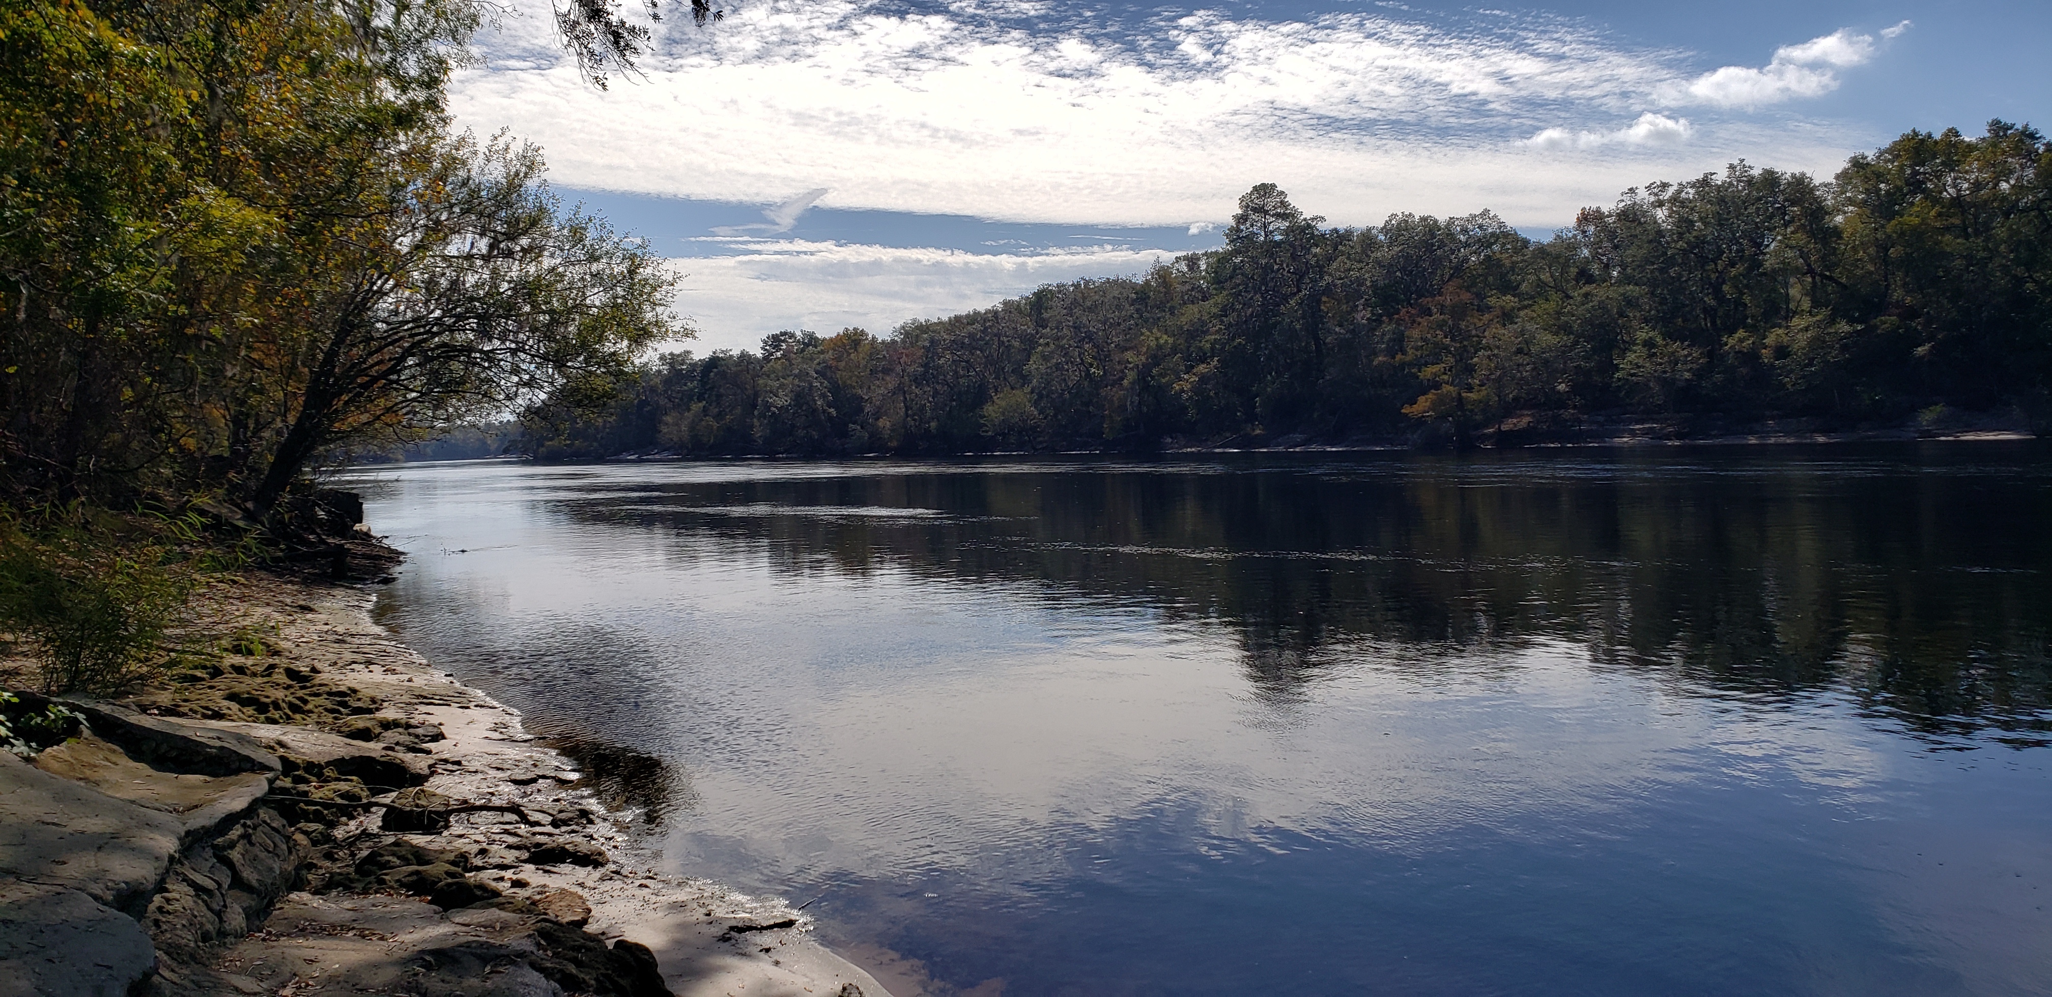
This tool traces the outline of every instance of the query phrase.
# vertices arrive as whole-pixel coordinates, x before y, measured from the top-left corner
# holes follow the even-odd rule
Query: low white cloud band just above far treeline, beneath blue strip
[[[733,256],[673,261],[683,275],[677,312],[698,338],[685,347],[755,349],[780,328],[889,332],[909,318],[989,308],[1042,283],[1143,273],[1166,250],[1098,248],[981,254],[942,248],[850,246],[804,240],[720,240]]]

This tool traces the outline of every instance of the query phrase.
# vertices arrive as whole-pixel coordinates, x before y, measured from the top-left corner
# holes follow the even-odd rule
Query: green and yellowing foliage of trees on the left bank
[[[0,6],[0,494],[263,517],[683,334],[644,244],[451,129],[482,10]]]

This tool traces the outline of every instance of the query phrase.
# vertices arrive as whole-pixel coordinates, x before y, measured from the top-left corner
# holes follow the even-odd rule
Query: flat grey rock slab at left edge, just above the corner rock
[[[185,843],[176,814],[117,800],[0,751],[0,876],[140,907]]]

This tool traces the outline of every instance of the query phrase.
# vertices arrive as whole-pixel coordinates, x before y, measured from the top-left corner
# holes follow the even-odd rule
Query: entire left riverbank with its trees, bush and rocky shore
[[[453,125],[509,12],[0,6],[0,991],[876,991],[607,855],[517,714],[371,624],[398,552],[312,478],[687,334],[646,246]],[[556,25],[597,82],[638,51]]]

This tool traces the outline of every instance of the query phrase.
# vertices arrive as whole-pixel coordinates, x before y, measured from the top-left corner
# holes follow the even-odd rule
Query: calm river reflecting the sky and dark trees
[[[901,997],[2052,993],[2044,445],[345,478]]]

